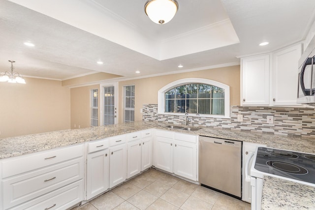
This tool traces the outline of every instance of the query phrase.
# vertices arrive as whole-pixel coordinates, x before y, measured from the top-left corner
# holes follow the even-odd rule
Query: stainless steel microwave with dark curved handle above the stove
[[[315,106],[315,37],[299,60],[297,103]]]

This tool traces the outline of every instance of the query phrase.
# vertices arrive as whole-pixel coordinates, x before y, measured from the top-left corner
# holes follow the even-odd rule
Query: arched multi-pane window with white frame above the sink
[[[229,118],[229,86],[189,78],[172,82],[158,91],[158,113]]]

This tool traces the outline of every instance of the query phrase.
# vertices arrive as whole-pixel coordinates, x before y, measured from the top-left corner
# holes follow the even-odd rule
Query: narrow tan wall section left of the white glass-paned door
[[[91,89],[99,89],[99,85],[72,88],[70,90],[71,129],[91,126],[90,117],[90,92]],[[98,91],[99,98],[99,91]],[[99,100],[98,100],[99,107]],[[98,112],[99,124],[99,112]]]

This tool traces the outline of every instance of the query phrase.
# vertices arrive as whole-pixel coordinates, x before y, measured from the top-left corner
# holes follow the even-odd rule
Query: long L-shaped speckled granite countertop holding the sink
[[[268,147],[273,148],[315,153],[315,139],[303,140],[281,135],[261,134],[246,131],[231,131],[228,129],[215,127],[203,127],[197,131],[187,131],[167,128],[167,125],[167,123],[162,122],[136,121],[132,123],[121,123],[73,130],[69,129],[0,139],[0,159],[28,154],[35,151],[49,150],[53,148],[84,143],[150,128],[253,142],[266,144]]]

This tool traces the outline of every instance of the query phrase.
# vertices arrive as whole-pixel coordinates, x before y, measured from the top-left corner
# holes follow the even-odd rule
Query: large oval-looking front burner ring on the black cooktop
[[[283,161],[278,161],[278,160],[269,160],[266,162],[266,164],[272,168],[278,169],[280,171],[286,172],[286,173],[290,173],[290,174],[307,174],[308,171],[299,166],[299,165],[295,165],[293,163],[286,163]]]

